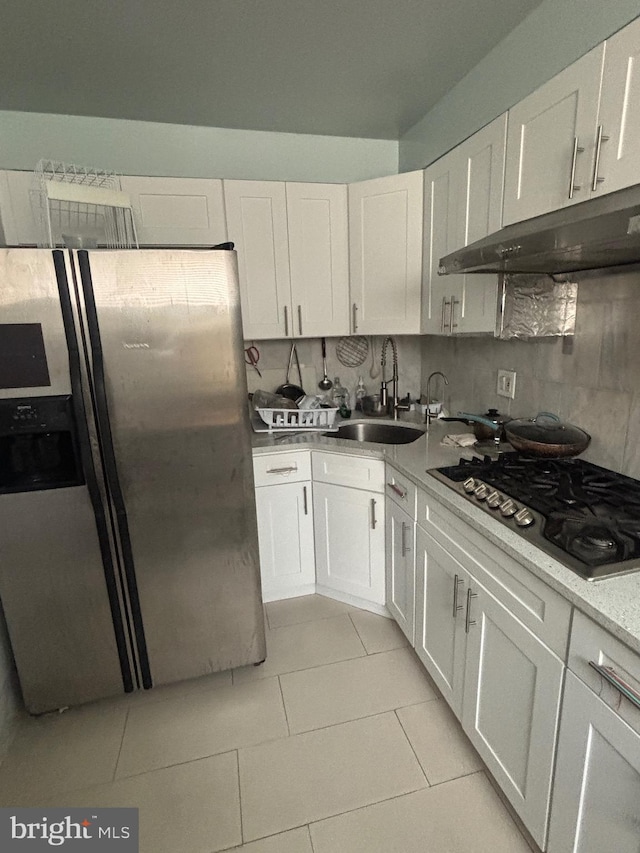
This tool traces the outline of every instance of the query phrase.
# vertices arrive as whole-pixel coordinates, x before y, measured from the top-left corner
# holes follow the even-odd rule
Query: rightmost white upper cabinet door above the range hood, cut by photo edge
[[[593,193],[640,183],[640,19],[607,40],[598,125]]]

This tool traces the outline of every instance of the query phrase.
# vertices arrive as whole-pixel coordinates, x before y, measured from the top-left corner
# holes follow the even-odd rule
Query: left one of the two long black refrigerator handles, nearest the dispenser
[[[104,577],[107,587],[107,596],[109,598],[109,608],[111,611],[111,619],[113,622],[116,648],[118,650],[118,660],[120,662],[120,671],[122,672],[122,684],[126,693],[131,693],[133,685],[133,675],[131,672],[131,663],[127,648],[126,633],[122,608],[118,597],[118,584],[116,580],[116,571],[113,564],[113,555],[109,544],[109,531],[107,525],[107,517],[104,504],[98,487],[98,477],[96,474],[93,457],[91,455],[91,442],[89,431],[87,429],[87,416],[84,405],[84,397],[82,393],[82,370],[80,367],[80,351],[78,348],[78,339],[76,337],[76,328],[73,319],[73,307],[71,303],[71,293],[69,290],[69,280],[64,262],[64,254],[60,250],[53,252],[53,265],[55,268],[56,279],[58,283],[58,293],[60,295],[60,308],[62,313],[62,322],[64,326],[64,334],[67,342],[69,353],[69,375],[71,379],[71,401],[73,412],[76,419],[76,428],[78,431],[78,441],[80,445],[80,456],[82,459],[82,467],[87,481],[87,491],[93,508],[93,514],[96,520],[96,530],[98,534],[98,543],[100,546],[100,554],[104,566]]]

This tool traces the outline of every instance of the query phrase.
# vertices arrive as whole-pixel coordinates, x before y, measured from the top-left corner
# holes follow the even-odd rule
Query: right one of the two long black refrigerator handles
[[[127,591],[129,593],[129,603],[131,607],[133,629],[135,632],[138,658],[142,675],[142,685],[145,689],[148,689],[153,686],[153,680],[151,677],[151,669],[149,665],[149,655],[147,652],[144,626],[142,624],[142,612],[140,609],[140,597],[138,594],[138,585],[136,582],[135,568],[133,563],[133,550],[131,547],[131,536],[129,534],[129,525],[127,522],[127,511],[124,503],[124,497],[122,494],[122,487],[120,485],[120,478],[118,476],[118,466],[113,447],[111,424],[109,421],[109,406],[107,402],[107,391],[105,384],[102,341],[100,338],[98,312],[93,292],[91,268],[89,266],[89,255],[86,251],[79,251],[77,253],[77,257],[78,267],[80,269],[80,279],[82,282],[82,291],[84,295],[84,305],[89,333],[89,342],[91,346],[91,355],[93,363],[94,404],[96,408],[96,419],[99,431],[101,451],[104,460],[104,470],[105,476],[108,481],[108,488],[111,495],[111,500],[113,501],[113,505],[115,507],[116,524],[122,549],[122,560],[124,563]]]

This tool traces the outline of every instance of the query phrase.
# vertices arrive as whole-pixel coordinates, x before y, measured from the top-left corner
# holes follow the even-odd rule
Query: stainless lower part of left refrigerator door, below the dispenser
[[[0,495],[0,597],[27,709],[123,692],[84,487]]]

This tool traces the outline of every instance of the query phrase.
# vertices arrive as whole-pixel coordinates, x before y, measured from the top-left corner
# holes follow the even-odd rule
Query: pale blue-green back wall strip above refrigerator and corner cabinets
[[[40,158],[125,175],[348,183],[398,171],[398,142],[0,111],[0,169]]]

